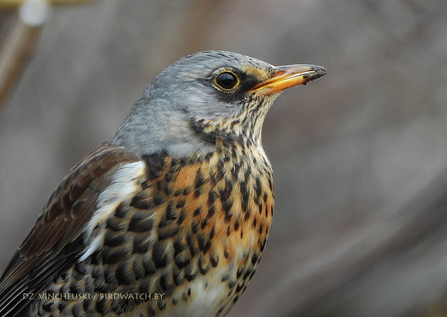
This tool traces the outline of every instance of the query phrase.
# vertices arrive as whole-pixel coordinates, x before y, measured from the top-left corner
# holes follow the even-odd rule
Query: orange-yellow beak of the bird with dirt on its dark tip
[[[327,74],[326,68],[315,65],[278,66],[275,67],[275,70],[273,77],[256,85],[249,93],[257,92],[268,95],[296,85],[306,85],[308,81]]]

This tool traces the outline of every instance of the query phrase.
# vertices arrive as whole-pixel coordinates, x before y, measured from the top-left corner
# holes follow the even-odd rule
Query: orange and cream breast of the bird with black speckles
[[[226,316],[273,217],[270,164],[261,148],[244,153],[143,156],[136,195],[92,232],[101,247],[44,291],[72,299],[37,300],[33,316]]]

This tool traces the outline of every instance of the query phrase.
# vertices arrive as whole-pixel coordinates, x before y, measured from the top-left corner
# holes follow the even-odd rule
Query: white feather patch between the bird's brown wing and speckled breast
[[[95,237],[92,237],[93,231],[97,226],[105,227],[107,219],[114,213],[118,205],[132,197],[139,189],[138,181],[144,171],[143,161],[123,165],[115,173],[110,185],[99,195],[97,209],[84,229],[84,241],[88,245],[78,262],[84,261],[104,243],[105,230],[97,231]]]

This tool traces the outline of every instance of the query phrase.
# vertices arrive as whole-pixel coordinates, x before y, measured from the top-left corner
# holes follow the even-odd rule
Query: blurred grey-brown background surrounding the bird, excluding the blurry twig
[[[447,316],[445,0],[55,7],[0,112],[0,271],[149,82],[205,50],[328,69],[267,116],[274,224],[229,317]]]

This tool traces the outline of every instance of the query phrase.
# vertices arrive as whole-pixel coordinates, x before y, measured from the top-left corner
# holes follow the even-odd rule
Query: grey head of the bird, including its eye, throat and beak
[[[172,156],[237,143],[261,146],[262,123],[276,97],[324,74],[319,66],[274,67],[231,52],[191,54],[152,81],[110,142]]]

